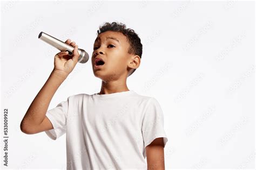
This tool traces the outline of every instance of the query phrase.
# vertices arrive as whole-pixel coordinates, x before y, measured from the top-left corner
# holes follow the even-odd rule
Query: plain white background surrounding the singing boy
[[[142,63],[127,86],[155,97],[164,111],[166,169],[253,168],[254,11],[254,2],[239,1],[2,2],[1,124],[8,108],[9,168],[65,169],[65,135],[51,140],[19,129],[59,52],[38,34],[70,38],[90,55],[57,90],[51,109],[70,95],[99,92],[91,53],[104,22],[122,22],[142,39]]]

